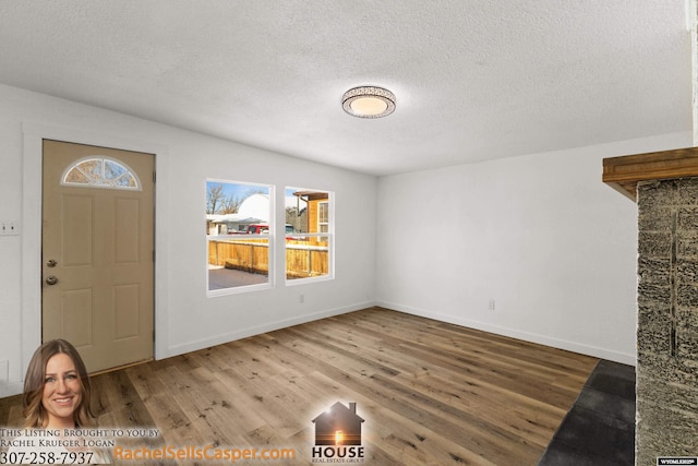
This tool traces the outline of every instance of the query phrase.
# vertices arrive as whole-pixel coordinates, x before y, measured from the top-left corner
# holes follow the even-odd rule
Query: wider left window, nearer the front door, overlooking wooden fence
[[[272,202],[269,186],[206,181],[209,295],[269,284]]]

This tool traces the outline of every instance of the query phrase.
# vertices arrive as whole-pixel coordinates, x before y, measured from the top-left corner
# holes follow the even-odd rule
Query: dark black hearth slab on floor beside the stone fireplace
[[[601,360],[539,466],[635,464],[635,368]]]

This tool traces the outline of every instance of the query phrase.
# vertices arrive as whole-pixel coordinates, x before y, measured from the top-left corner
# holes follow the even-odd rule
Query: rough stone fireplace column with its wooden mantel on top
[[[636,464],[698,456],[698,147],[612,157],[638,205]]]

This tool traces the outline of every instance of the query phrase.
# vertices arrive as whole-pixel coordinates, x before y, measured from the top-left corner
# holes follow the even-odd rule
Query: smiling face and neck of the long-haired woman
[[[46,363],[41,396],[41,404],[48,413],[47,427],[75,427],[73,413],[81,399],[80,374],[73,360],[64,353],[51,356]]]

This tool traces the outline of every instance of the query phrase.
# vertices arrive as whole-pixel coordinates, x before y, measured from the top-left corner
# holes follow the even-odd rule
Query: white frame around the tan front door
[[[77,144],[113,147],[124,151],[145,152],[155,155],[155,266],[154,266],[154,322],[155,337],[153,355],[155,359],[168,356],[167,342],[167,166],[169,151],[167,146],[137,141],[110,133],[84,131],[75,128],[61,128],[23,122],[23,167],[22,167],[22,379],[32,355],[41,344],[41,180],[43,142],[45,139]]]

